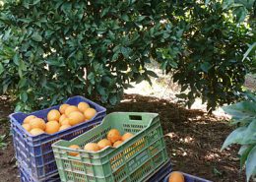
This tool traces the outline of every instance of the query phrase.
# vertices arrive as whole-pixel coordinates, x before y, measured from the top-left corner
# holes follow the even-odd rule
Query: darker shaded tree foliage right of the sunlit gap
[[[252,68],[251,56],[243,60],[243,54],[253,34],[244,25],[234,24],[221,3],[193,4],[189,12],[184,20],[186,51],[173,78],[184,91],[178,96],[188,100],[188,106],[202,97],[211,112],[240,98],[245,75]]]

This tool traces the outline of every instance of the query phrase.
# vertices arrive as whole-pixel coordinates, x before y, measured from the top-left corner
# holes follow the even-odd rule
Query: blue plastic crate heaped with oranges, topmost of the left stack
[[[10,115],[16,157],[18,161],[23,161],[27,166],[29,166],[29,170],[34,178],[42,179],[48,175],[58,173],[51,148],[51,145],[54,142],[60,139],[71,140],[80,134],[85,133],[86,131],[96,127],[96,125],[98,125],[105,116],[106,109],[104,107],[82,96],[71,97],[65,101],[65,103],[77,105],[81,101],[85,101],[89,103],[91,107],[95,108],[97,111],[96,116],[87,122],[83,122],[79,125],[51,135],[41,134],[38,136],[32,136],[22,127],[22,123],[28,115],[32,114],[43,118],[46,121],[49,110],[58,109],[59,105],[35,111],[31,114],[18,112]]]

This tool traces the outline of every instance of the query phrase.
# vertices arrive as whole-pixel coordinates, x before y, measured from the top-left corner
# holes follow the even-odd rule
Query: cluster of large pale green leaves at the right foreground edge
[[[240,166],[246,166],[247,181],[256,176],[256,96],[251,100],[225,106],[224,111],[232,116],[232,124],[239,127],[225,139],[222,150],[231,144],[241,145]]]

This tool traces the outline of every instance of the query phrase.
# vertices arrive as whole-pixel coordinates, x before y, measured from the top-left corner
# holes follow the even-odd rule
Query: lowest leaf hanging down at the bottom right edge
[[[246,160],[246,179],[247,179],[247,182],[250,181],[251,176],[256,175],[255,171],[256,171],[256,146],[248,154],[248,157],[247,157],[247,160]]]

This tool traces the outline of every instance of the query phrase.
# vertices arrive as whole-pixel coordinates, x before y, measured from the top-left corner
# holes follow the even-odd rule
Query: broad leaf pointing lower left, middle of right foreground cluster
[[[243,140],[243,136],[245,134],[247,127],[239,127],[232,131],[224,141],[224,145],[221,151],[224,151],[231,144],[240,144]]]

